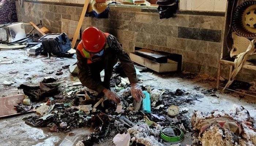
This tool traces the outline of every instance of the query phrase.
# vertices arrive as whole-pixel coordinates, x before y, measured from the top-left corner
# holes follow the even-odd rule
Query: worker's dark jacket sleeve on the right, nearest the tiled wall
[[[117,41],[116,37],[110,34],[107,38],[107,43],[109,45],[109,49],[114,49],[114,51],[116,52],[117,58],[121,62],[123,70],[127,75],[130,83],[132,84],[134,82],[138,82],[133,62],[131,61],[129,55],[123,50],[122,46]]]

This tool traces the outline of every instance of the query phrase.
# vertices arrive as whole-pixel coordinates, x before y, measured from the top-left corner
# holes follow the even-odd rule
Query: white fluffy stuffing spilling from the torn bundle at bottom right
[[[215,117],[230,116],[238,124],[241,125],[243,132],[240,135],[235,134],[228,129],[212,124],[207,130],[202,133],[202,136],[198,137],[198,140],[202,143],[202,146],[256,146],[256,132],[253,127],[249,127],[244,122],[255,124],[255,120],[249,115],[249,112],[242,106],[235,105],[231,110],[215,111],[210,115],[204,115],[202,112],[194,112],[191,123],[196,130],[202,126],[204,120]],[[234,141],[237,139],[237,141]]]

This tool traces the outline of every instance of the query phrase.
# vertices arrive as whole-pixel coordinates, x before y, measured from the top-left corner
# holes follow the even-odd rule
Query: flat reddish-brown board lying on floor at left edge
[[[18,113],[14,107],[14,105],[18,105],[23,102],[24,95],[15,95],[0,98],[0,118],[5,118],[8,116],[20,115],[24,113]],[[34,112],[34,110],[28,111]],[[25,112],[25,113],[28,113]]]

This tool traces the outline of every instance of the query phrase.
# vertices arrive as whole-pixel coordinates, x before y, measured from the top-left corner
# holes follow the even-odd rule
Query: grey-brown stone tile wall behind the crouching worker
[[[81,6],[66,6],[25,2],[17,7],[20,22],[39,22],[52,32],[66,32],[71,38],[75,32]],[[109,19],[85,18],[82,29],[95,26],[110,32],[123,44],[125,51],[135,47],[182,55],[182,69],[217,76],[221,57],[224,13],[178,11],[175,17],[159,19],[156,9],[110,7]],[[229,68],[224,67],[227,77]],[[240,76],[250,79],[251,72],[243,70]],[[239,78],[240,78],[239,77]],[[246,80],[248,81],[248,80]]]

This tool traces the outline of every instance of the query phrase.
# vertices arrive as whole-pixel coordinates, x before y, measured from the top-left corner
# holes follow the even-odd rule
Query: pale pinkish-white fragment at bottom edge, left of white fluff
[[[131,140],[131,136],[129,133],[125,134],[120,134],[118,133],[114,138],[113,138],[113,143],[116,146],[129,146]]]

